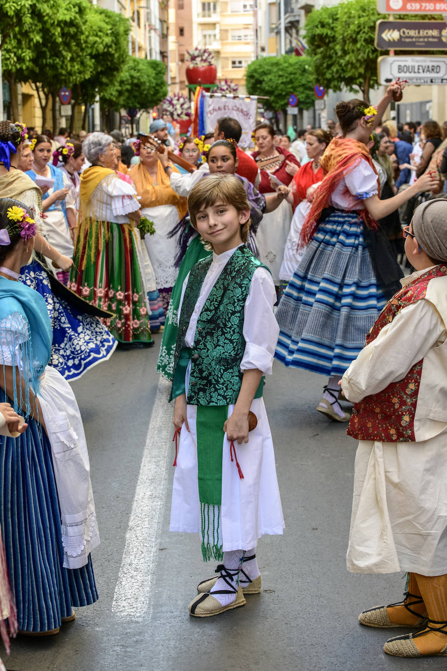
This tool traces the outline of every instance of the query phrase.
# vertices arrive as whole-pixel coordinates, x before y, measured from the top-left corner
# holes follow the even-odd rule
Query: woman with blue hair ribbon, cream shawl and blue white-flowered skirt
[[[42,230],[42,192],[34,181],[18,169],[26,142],[26,127],[21,123],[0,121],[1,146],[10,150],[9,169],[0,165],[0,197],[14,198],[25,203],[31,211],[38,230]],[[72,295],[44,259],[49,258],[56,268],[69,270],[73,261],[60,254],[40,233],[34,239],[34,258],[21,270],[20,281],[38,291],[45,299],[53,329],[51,365],[66,380],[76,380],[101,361],[107,361],[117,343],[90,305]],[[88,312],[87,312],[88,311]]]

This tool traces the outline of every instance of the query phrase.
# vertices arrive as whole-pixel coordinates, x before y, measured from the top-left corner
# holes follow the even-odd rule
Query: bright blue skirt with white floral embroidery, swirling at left
[[[52,293],[50,280],[36,260],[24,266],[20,281],[40,293],[46,302],[53,329],[50,365],[70,382],[89,368],[107,361],[117,341],[93,315],[80,312],[74,305]]]

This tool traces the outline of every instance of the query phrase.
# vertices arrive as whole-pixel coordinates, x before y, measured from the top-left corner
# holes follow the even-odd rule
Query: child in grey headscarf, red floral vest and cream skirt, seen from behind
[[[420,205],[404,236],[416,272],[341,380],[360,441],[347,566],[409,572],[403,602],[359,621],[413,629],[384,650],[420,657],[447,655],[447,201]]]

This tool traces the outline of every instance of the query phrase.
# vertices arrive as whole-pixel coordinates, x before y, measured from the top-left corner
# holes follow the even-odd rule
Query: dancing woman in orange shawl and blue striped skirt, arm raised
[[[436,187],[426,175],[393,198],[379,199],[365,143],[404,86],[391,83],[377,109],[357,99],[336,106],[343,135],[322,156],[325,176],[300,237],[300,245],[308,247],[276,313],[275,357],[285,366],[329,376],[317,410],[335,421],[350,419],[338,404],[338,382],[387,299],[400,288],[401,270],[377,219]]]

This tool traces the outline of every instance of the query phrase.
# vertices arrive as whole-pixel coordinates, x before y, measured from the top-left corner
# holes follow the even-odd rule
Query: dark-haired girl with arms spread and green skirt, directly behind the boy
[[[160,160],[166,162],[167,158],[164,154],[161,154]],[[208,166],[210,174],[235,174],[239,165],[236,142],[232,140],[217,140],[208,152],[207,161],[206,165]],[[169,171],[169,166],[166,169]],[[185,181],[190,185],[194,185],[202,180],[205,175],[205,172],[196,170],[196,172],[187,176]],[[289,189],[287,187],[279,187],[277,193],[263,195],[262,193],[259,193],[259,191],[257,191],[245,177],[239,174],[235,174],[235,176],[243,185],[249,201],[251,210],[251,234],[253,236],[253,232],[256,231],[263,214],[265,212],[271,212],[277,208],[283,199],[289,195]],[[175,173],[172,174],[172,172],[170,172],[170,177],[172,183],[173,178],[176,178],[177,176]],[[174,190],[178,189],[178,180],[174,183],[173,188]],[[182,193],[184,192],[182,191]],[[190,193],[190,191],[188,191],[188,193]],[[174,289],[172,290],[170,307],[168,309],[168,315],[166,315],[166,324],[157,361],[157,372],[162,373],[162,375],[169,380],[172,379],[172,365],[177,340],[178,306],[180,304],[180,296],[182,295],[183,282],[192,266],[194,266],[200,259],[206,258],[206,256],[210,256],[211,254],[209,249],[204,248],[200,236],[196,234],[196,231],[194,231],[191,225],[186,222],[185,218],[180,221],[174,231],[178,232],[178,229],[181,229],[179,236],[181,263],[178,270],[178,278],[174,285]],[[253,238],[251,242],[254,242]],[[186,245],[188,245],[188,247],[186,247]]]

